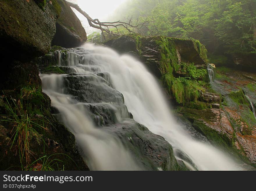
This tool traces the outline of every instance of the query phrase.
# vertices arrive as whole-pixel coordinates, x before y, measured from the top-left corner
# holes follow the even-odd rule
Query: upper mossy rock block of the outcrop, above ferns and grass
[[[167,73],[179,73],[181,63],[206,67],[207,50],[200,43],[198,46],[195,40],[129,34],[110,39],[104,44],[120,53],[137,55],[158,78]]]

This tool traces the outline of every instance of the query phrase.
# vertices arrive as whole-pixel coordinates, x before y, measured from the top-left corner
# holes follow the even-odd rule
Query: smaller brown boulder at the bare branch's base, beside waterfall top
[[[58,1],[61,6],[61,15],[56,22],[56,34],[52,41],[52,45],[62,46],[65,48],[78,47],[86,42],[86,32],[65,1]]]

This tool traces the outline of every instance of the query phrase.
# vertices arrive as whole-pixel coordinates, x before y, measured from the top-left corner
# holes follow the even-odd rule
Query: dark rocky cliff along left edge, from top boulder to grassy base
[[[0,9],[0,169],[88,170],[74,135],[52,114],[33,60],[50,49],[60,5],[3,0]]]

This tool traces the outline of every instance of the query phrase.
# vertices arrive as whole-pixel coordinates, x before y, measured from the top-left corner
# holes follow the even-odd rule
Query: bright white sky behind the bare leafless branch
[[[118,8],[120,4],[127,0],[68,0],[70,2],[78,4],[78,6],[90,15],[93,19],[99,19],[100,21],[108,21],[109,15]],[[72,8],[73,9],[73,8]],[[74,10],[74,9],[73,9]],[[87,19],[74,10],[77,14],[77,17],[80,19],[83,27],[86,30],[87,35],[92,33],[94,30],[92,27],[89,27]]]

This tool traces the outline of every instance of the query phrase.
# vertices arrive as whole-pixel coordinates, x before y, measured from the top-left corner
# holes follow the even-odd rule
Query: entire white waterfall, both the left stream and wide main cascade
[[[108,74],[107,78],[111,85],[123,94],[125,105],[133,114],[134,120],[145,125],[151,132],[163,136],[173,146],[176,158],[183,160],[188,168],[241,170],[239,165],[226,154],[210,144],[194,140],[181,125],[176,123],[157,80],[141,62],[129,55],[120,56],[110,48],[91,44],[86,44],[78,51],[79,54],[71,51],[69,54],[72,55],[68,56],[69,67],[76,73],[69,76],[41,74],[41,79],[43,91],[49,95],[52,105],[58,108],[63,123],[74,133],[81,149],[88,155],[86,159],[92,170],[143,169],[116,137],[94,127],[86,117],[86,104],[64,93],[63,79],[78,74],[86,74],[87,78],[90,77],[89,80],[102,88],[106,82],[97,80],[95,72]],[[79,81],[77,79],[77,83]],[[72,83],[70,86],[78,85]],[[87,90],[86,94],[89,94],[89,91]],[[104,95],[100,94],[99,98],[102,96]],[[111,100],[102,102],[107,102],[109,107],[121,104],[119,101]],[[115,108],[123,108],[123,106]],[[126,109],[115,109],[115,112],[118,113],[118,121],[127,117]],[[179,158],[180,151],[185,153],[188,159]]]

